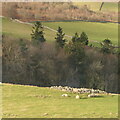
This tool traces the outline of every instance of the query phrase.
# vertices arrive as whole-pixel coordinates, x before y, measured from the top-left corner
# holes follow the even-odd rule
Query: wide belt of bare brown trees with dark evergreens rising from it
[[[71,41],[64,36],[58,27],[55,42],[46,42],[40,22],[33,26],[31,41],[3,35],[3,82],[118,92],[118,54],[111,41],[96,48],[85,32],[75,33]]]

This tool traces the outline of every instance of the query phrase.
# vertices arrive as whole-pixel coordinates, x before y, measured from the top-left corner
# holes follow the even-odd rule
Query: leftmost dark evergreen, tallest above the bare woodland
[[[43,26],[40,22],[36,22],[33,26],[31,40],[33,43],[40,43],[45,42],[46,39],[44,38]]]

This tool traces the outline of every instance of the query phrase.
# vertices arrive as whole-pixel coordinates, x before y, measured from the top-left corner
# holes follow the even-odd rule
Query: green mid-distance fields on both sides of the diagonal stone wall
[[[2,19],[3,34],[11,35],[17,38],[30,39],[32,30],[31,25],[13,22],[10,19]],[[43,22],[43,25],[57,30],[58,26],[63,28],[63,31],[70,36],[75,32],[79,34],[86,32],[89,40],[101,42],[106,38],[111,39],[113,44],[118,44],[118,24],[116,23],[93,23],[93,22]],[[48,41],[54,41],[55,32],[45,29],[45,37]],[[66,37],[68,40],[70,38]],[[95,43],[96,44],[96,43]]]

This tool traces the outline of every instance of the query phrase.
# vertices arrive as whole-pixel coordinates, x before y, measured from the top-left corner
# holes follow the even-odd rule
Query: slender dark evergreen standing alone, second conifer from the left
[[[65,33],[63,33],[63,30],[61,27],[58,27],[57,34],[56,34],[56,44],[57,47],[63,48],[65,45],[66,40],[64,39]]]

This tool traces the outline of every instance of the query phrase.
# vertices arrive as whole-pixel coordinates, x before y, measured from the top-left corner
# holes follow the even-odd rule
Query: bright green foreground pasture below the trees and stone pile
[[[1,87],[1,86],[0,86]],[[115,118],[118,96],[75,99],[43,87],[3,84],[3,118]],[[85,96],[85,95],[81,95]]]

